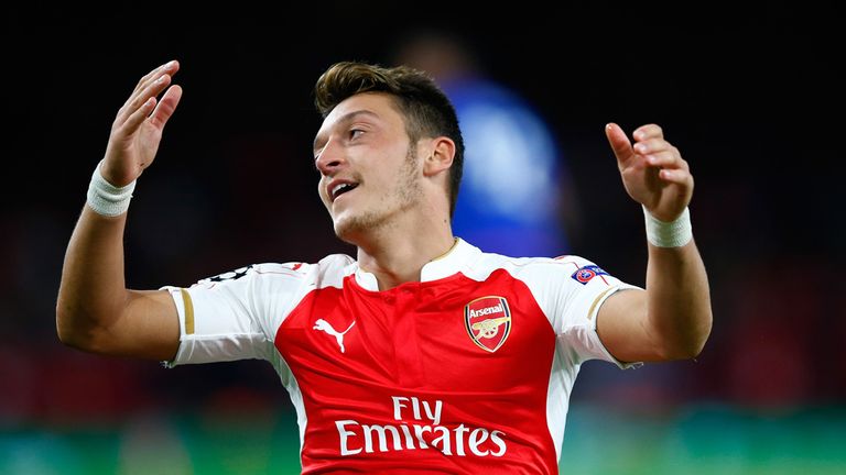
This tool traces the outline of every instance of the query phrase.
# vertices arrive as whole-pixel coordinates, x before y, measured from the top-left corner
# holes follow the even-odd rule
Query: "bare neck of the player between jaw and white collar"
[[[420,281],[426,263],[446,254],[455,244],[449,221],[424,220],[412,232],[376,230],[358,245],[358,265],[376,276],[379,290]]]

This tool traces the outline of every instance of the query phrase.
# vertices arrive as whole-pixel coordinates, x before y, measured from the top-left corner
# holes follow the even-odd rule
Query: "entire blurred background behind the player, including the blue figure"
[[[655,122],[696,179],[714,330],[696,361],[586,363],[562,473],[846,473],[832,8],[171,8],[7,7],[1,20],[1,474],[299,472],[295,415],[269,364],[164,369],[55,335],[64,251],[111,121],[173,58],[185,95],[132,200],[129,286],[355,252],[333,234],[311,157],[311,88],[336,60],[413,64],[454,98],[468,143],[459,235],[582,255],[636,285],[643,218],[603,128]]]

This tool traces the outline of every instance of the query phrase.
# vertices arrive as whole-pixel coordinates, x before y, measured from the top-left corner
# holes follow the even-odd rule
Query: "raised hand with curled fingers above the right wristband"
[[[657,219],[675,220],[691,202],[693,176],[679,150],[664,140],[660,126],[638,128],[629,142],[626,133],[615,123],[605,128],[622,184],[629,196],[643,205]]]

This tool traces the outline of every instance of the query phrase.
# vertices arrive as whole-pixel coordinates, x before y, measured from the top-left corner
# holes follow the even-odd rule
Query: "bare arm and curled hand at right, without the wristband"
[[[634,145],[616,124],[606,126],[626,191],[655,219],[672,222],[693,196],[693,176],[679,150],[655,124],[634,131]],[[711,333],[708,278],[696,244],[649,243],[647,289],[614,294],[599,308],[597,331],[623,362],[692,358]]]

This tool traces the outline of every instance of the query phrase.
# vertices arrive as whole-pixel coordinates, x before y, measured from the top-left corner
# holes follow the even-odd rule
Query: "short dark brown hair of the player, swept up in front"
[[[360,62],[332,65],[314,86],[314,104],[326,115],[344,100],[361,92],[387,92],[395,98],[405,117],[405,132],[412,143],[422,137],[448,136],[455,142],[449,169],[449,216],[455,213],[464,169],[464,139],[455,107],[426,73],[408,67],[386,68]]]

